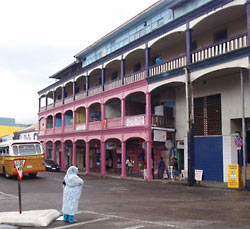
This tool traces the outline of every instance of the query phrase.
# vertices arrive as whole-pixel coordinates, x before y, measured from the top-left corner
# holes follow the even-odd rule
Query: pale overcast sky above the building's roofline
[[[38,121],[38,94],[73,56],[157,0],[0,0],[0,117]]]

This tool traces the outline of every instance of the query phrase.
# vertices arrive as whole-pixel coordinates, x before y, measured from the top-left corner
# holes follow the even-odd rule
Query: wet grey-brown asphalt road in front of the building
[[[23,211],[60,211],[63,177],[64,173],[51,172],[40,173],[37,178],[24,177]],[[248,191],[81,177],[85,185],[77,223],[56,220],[48,228],[250,228]],[[17,188],[15,178],[0,177],[1,212],[18,211]]]

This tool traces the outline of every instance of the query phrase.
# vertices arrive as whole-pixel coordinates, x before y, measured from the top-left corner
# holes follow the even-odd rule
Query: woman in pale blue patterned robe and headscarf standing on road
[[[82,193],[84,181],[77,176],[78,168],[69,167],[63,182],[63,218],[64,221],[75,222],[75,214],[78,210],[78,203]]]

